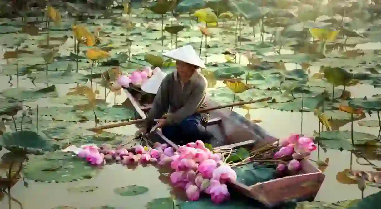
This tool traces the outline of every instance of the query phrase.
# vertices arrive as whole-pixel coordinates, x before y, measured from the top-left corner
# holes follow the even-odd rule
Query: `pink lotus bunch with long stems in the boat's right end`
[[[316,149],[316,145],[312,138],[293,134],[288,138],[279,140],[279,151],[274,154],[274,159],[288,158],[291,159],[287,165],[279,163],[277,171],[284,173],[290,171],[295,173],[301,169],[300,160],[311,155]]]

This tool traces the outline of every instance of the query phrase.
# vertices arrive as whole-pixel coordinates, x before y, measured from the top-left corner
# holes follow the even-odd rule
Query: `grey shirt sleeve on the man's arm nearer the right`
[[[167,124],[179,123],[185,117],[194,114],[202,105],[206,95],[206,86],[198,85],[189,95],[186,105],[166,118]]]

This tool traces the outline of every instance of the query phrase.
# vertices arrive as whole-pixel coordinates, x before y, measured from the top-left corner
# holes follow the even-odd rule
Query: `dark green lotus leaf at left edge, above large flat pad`
[[[46,151],[54,151],[54,146],[45,135],[33,131],[16,131],[4,133],[0,136],[0,144],[11,152],[26,152],[43,154]]]

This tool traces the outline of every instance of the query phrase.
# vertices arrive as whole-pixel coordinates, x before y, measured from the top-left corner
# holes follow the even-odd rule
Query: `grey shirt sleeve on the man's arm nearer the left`
[[[146,117],[146,127],[150,128],[155,124],[154,119],[159,119],[163,116],[169,108],[169,92],[168,84],[171,78],[171,74],[168,74],[160,84],[160,87],[155,95],[154,102],[152,103],[152,108],[150,109]]]

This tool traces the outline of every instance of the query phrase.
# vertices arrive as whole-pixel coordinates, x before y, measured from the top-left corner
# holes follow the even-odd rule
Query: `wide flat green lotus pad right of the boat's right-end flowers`
[[[352,150],[351,131],[323,131],[320,137],[314,133],[315,139],[320,141],[323,146],[330,149]],[[377,136],[369,133],[353,131],[353,141],[355,145],[364,145],[365,143],[375,144]]]

